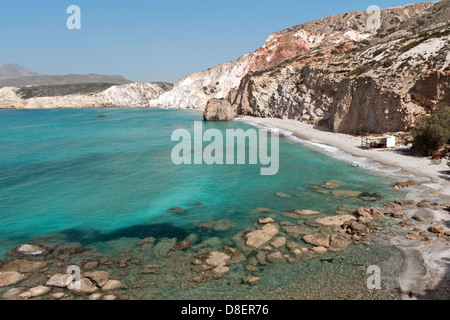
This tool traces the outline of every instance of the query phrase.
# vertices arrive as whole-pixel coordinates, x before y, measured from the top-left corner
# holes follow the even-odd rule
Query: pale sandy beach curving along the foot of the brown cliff
[[[416,203],[422,200],[438,203],[450,202],[450,175],[447,164],[432,164],[429,158],[411,156],[401,152],[385,149],[365,149],[361,147],[361,138],[347,134],[333,133],[311,124],[286,119],[241,117],[250,125],[263,128],[279,129],[291,132],[295,137],[309,143],[337,148],[357,158],[375,160],[381,165],[397,168],[401,180],[402,173],[421,182],[418,187],[411,188],[408,199]],[[314,145],[312,145],[314,146]],[[325,149],[326,151],[326,149]],[[351,160],[351,158],[349,158]],[[406,180],[406,179],[405,179]],[[412,216],[420,214],[426,217],[426,223],[415,223],[419,229],[432,224],[441,224],[449,230],[449,213],[444,210],[429,208],[405,209],[405,218],[412,222]],[[411,241],[406,238],[408,230],[414,225],[405,227],[403,232],[389,239],[390,243],[404,253],[404,263],[398,275],[399,288],[404,299],[443,299],[450,297],[450,246],[446,239],[436,238],[431,243]],[[445,298],[444,298],[445,299]]]

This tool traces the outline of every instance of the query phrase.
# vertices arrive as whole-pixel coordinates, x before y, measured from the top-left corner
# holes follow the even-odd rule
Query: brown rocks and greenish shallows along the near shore
[[[407,181],[396,184],[394,188],[409,188],[416,184],[416,181]],[[313,186],[312,190],[338,199],[359,197],[370,201],[369,198],[374,197],[355,190],[341,190],[336,181]],[[283,198],[290,195],[279,193],[276,196]],[[191,234],[180,242],[176,238],[150,237],[133,245],[129,243],[115,258],[93,247],[52,245],[48,239],[58,238],[58,235],[53,235],[47,242],[21,245],[8,252],[7,258],[0,260],[0,295],[3,299],[23,300],[114,300],[142,298],[140,292],[145,290],[150,292],[148,297],[151,298],[167,284],[178,290],[194,290],[201,285],[214,287],[215,283],[223,286],[225,284],[218,282],[221,279],[227,280],[228,286],[233,286],[230,290],[261,287],[264,291],[267,290],[264,273],[269,271],[266,269],[269,266],[287,268],[288,265],[298,265],[304,272],[308,261],[321,259],[325,255],[327,259],[321,261],[333,263],[340,253],[345,253],[351,246],[371,246],[371,238],[402,238],[415,246],[438,243],[448,248],[449,229],[432,221],[433,212],[446,212],[448,215],[449,210],[449,204],[428,200],[419,203],[398,200],[382,207],[357,209],[343,205],[333,216],[311,210],[277,212],[270,208],[256,208],[250,213],[259,216],[253,228],[235,234],[228,245],[222,245],[219,237],[200,240],[198,234]],[[170,211],[176,215],[185,214],[178,207]],[[229,231],[232,224],[211,220],[199,224],[198,228],[199,231],[211,230],[219,235]],[[79,266],[80,272],[78,267],[73,266]],[[328,277],[328,281],[333,281],[334,276]],[[434,279],[434,282],[438,280]],[[356,290],[363,284],[350,283],[350,287]],[[221,289],[224,288],[216,287],[216,290]],[[320,292],[320,289],[316,288],[316,291]],[[424,288],[421,289],[423,293]],[[301,293],[296,296],[293,292],[278,298],[314,298]],[[360,295],[357,291],[353,294],[340,291],[339,294],[332,298],[357,299]],[[420,298],[419,291],[404,294]],[[448,287],[440,294],[448,297]],[[267,297],[277,298],[271,296],[269,291]],[[170,299],[170,296],[166,298]]]

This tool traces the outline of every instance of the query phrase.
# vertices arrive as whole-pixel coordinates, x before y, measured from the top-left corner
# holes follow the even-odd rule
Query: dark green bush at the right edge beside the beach
[[[432,155],[450,142],[450,106],[438,114],[423,117],[413,132],[414,145],[426,155]]]

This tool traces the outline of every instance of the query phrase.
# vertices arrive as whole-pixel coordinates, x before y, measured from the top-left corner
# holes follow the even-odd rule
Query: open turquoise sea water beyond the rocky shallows
[[[218,237],[231,244],[260,218],[256,208],[333,215],[343,204],[375,206],[401,197],[393,178],[288,139],[280,139],[275,176],[261,176],[260,165],[174,165],[172,132],[192,131],[199,120],[197,111],[146,108],[0,110],[0,256],[48,235],[112,255],[129,249],[130,239],[146,237],[181,241],[196,233],[199,242]],[[239,121],[203,127],[252,128]],[[339,190],[362,194],[336,197],[312,188],[331,180]],[[198,231],[211,219],[231,228]]]

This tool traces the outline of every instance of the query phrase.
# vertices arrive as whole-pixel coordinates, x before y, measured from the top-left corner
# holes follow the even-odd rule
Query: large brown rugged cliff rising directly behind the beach
[[[449,3],[385,9],[376,34],[354,37],[363,41],[336,45],[331,36],[275,67],[249,72],[228,96],[235,114],[310,121],[351,134],[410,129],[418,117],[450,105]],[[346,15],[353,29],[364,14]],[[315,23],[284,34],[309,32],[304,29]]]

